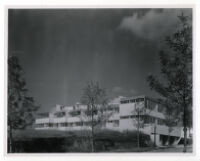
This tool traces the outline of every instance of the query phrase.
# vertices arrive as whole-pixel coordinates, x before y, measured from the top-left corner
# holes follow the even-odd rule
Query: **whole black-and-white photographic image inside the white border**
[[[8,8],[6,151],[187,153],[193,8]]]

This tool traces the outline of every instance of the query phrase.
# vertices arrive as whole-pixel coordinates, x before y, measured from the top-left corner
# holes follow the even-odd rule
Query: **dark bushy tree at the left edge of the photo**
[[[33,97],[27,95],[22,67],[16,56],[8,58],[8,150],[13,151],[13,130],[25,129],[34,121],[35,105]]]

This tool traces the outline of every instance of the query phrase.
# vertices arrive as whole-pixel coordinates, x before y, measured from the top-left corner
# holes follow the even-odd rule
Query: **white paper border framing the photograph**
[[[20,1],[20,0],[19,0]],[[74,1],[74,0],[73,0]],[[102,160],[102,159],[115,159],[117,160],[121,160],[121,159],[126,159],[126,160],[200,160],[200,146],[199,146],[199,138],[198,136],[200,136],[199,134],[199,109],[198,106],[200,105],[200,101],[199,101],[199,84],[198,82],[200,82],[199,79],[199,60],[200,60],[200,55],[197,54],[199,53],[199,47],[197,44],[199,43],[199,31],[197,29],[199,29],[200,25],[199,25],[199,17],[197,15],[199,14],[199,4],[193,2],[193,3],[188,3],[188,1],[177,1],[174,0],[173,3],[170,3],[170,1],[168,0],[167,2],[164,1],[165,3],[160,3],[160,2],[155,2],[151,1],[152,4],[143,2],[143,3],[138,3],[136,1],[133,2],[127,2],[125,1],[124,3],[122,1],[117,1],[116,2],[103,2],[103,1],[94,1],[93,3],[87,3],[87,1],[85,3],[80,2],[77,3],[74,1],[69,1],[69,3],[63,3],[63,5],[61,5],[60,2],[56,2],[56,1],[29,1],[29,2],[23,2],[20,1],[20,3],[16,3],[16,1],[8,1],[7,3],[5,2],[5,4],[1,5],[1,16],[0,16],[0,20],[1,20],[1,26],[3,26],[3,30],[1,30],[0,33],[0,41],[1,41],[1,50],[2,53],[0,60],[1,60],[1,74],[4,76],[3,79],[1,79],[1,111],[0,113],[2,114],[2,116],[0,117],[0,125],[1,125],[1,135],[0,138],[2,139],[2,143],[3,146],[0,147],[1,149],[1,153],[2,153],[2,158],[4,160],[44,160],[44,159],[48,159],[48,160],[54,160],[54,159],[60,159],[60,160]],[[76,0],[77,1],[77,0]],[[144,1],[144,0],[143,0]],[[31,2],[33,2],[31,4]],[[49,2],[49,3],[48,3]],[[102,3],[103,2],[103,3]],[[24,5],[25,4],[25,5]],[[22,9],[22,8],[26,8],[26,9],[31,9],[31,8],[41,8],[41,9],[51,9],[51,8],[193,8],[193,126],[194,126],[194,142],[193,142],[193,153],[192,154],[182,154],[182,153],[99,153],[99,154],[83,154],[83,153],[53,153],[53,154],[49,154],[49,153],[44,153],[44,154],[7,154],[7,45],[8,45],[8,9],[11,8],[18,8],[18,9]],[[3,10],[2,10],[3,9]],[[2,32],[3,31],[3,32]],[[198,43],[197,43],[198,42]],[[3,151],[2,151],[3,149]],[[49,157],[52,158],[49,158]],[[66,158],[67,157],[67,158]]]

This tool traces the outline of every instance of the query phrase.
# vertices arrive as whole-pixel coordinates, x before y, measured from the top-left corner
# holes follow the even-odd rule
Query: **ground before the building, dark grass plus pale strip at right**
[[[86,131],[85,131],[86,132]],[[23,130],[14,131],[13,136],[16,141],[15,152],[87,152],[81,149],[82,146],[88,145],[80,144],[81,142],[74,143],[74,140],[82,138],[84,133],[79,132],[67,132],[67,131],[49,131],[49,130]],[[85,133],[88,134],[88,133]],[[98,139],[101,140],[96,148],[96,152],[100,153],[182,153],[183,145],[171,146],[171,147],[153,147],[146,146],[137,148],[137,139],[134,140],[133,137],[135,133],[117,133],[112,131],[104,131],[99,134]],[[101,136],[101,137],[100,137]],[[107,140],[105,140],[107,138]],[[112,138],[112,139],[111,139]],[[143,137],[144,138],[144,137]],[[132,139],[132,140],[131,140]],[[128,140],[128,142],[127,142]],[[80,140],[79,140],[80,141]],[[108,142],[110,141],[110,142]],[[116,144],[112,144],[114,141]],[[38,147],[37,145],[40,144]],[[80,147],[80,145],[82,145]],[[104,145],[102,149],[102,145]],[[107,146],[105,146],[107,145]],[[83,148],[83,147],[82,147]],[[187,147],[187,153],[192,153],[192,145]]]

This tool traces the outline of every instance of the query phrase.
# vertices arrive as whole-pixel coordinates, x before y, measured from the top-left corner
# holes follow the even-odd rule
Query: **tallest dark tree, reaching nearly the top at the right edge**
[[[170,102],[173,111],[178,110],[184,127],[184,149],[187,146],[187,128],[192,124],[192,25],[189,16],[178,16],[179,27],[166,37],[169,50],[160,51],[163,80],[148,76],[151,89]]]

